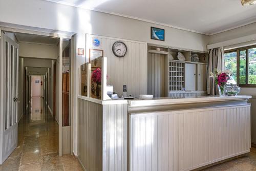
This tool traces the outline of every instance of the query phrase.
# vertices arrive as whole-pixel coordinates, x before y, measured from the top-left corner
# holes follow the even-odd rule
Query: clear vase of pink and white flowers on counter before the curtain
[[[229,70],[210,72],[210,77],[214,78],[215,84],[218,86],[219,96],[225,96],[225,85],[230,80],[232,73]]]

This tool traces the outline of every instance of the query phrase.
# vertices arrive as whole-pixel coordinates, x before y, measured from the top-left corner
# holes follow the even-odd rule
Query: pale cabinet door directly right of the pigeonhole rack
[[[195,91],[196,90],[196,64],[186,63],[185,64],[185,90]]]

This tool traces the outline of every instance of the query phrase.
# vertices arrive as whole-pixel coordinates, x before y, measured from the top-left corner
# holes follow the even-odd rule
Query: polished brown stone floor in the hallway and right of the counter
[[[41,102],[41,104],[43,104]],[[40,109],[41,110],[41,109]],[[31,110],[32,111],[32,110]],[[256,171],[256,148],[246,156],[233,159],[205,171]],[[82,167],[71,155],[58,156],[58,124],[52,115],[41,110],[40,120],[24,115],[18,124],[18,146],[0,165],[0,171],[64,170],[80,171]]]

